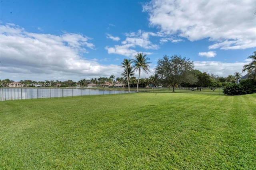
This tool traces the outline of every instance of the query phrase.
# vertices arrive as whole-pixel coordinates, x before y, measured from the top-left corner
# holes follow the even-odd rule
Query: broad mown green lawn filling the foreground
[[[256,94],[0,102],[0,169],[256,169]]]

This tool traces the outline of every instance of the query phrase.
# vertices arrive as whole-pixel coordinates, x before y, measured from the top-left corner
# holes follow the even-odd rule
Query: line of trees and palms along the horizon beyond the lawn
[[[252,79],[250,82],[256,82],[256,51],[254,51],[254,55],[249,56],[248,58],[252,59],[252,61],[248,65],[244,65],[243,72],[247,71],[249,74],[249,79]],[[130,92],[130,87],[136,87],[137,92],[138,88],[153,88],[153,87],[170,87],[172,91],[175,92],[176,87],[190,87],[194,90],[195,87],[209,87],[213,91],[218,87],[230,88],[232,89],[244,89],[240,87],[240,85],[234,85],[236,80],[242,77],[242,73],[235,72],[234,75],[228,75],[227,77],[219,77],[218,75],[214,75],[212,73],[201,72],[200,70],[194,69],[193,61],[187,59],[186,57],[182,57],[181,55],[173,55],[169,57],[168,55],[164,55],[162,59],[158,59],[158,63],[156,68],[154,69],[154,74],[150,75],[147,78],[140,78],[140,73],[144,71],[145,73],[150,72],[148,62],[150,60],[146,57],[144,53],[137,53],[134,55],[134,59],[124,59],[121,63],[120,67],[124,69],[121,77],[116,77],[114,75],[110,75],[109,77],[98,77],[92,78],[90,80],[81,79],[79,81],[32,81],[32,80],[20,80],[19,83],[24,85],[29,85],[29,87],[36,84],[47,84],[52,87],[85,87],[88,84],[96,84],[98,86],[104,86],[107,82],[110,84],[110,87],[114,87],[115,83],[122,83],[124,87],[128,87]],[[135,71],[138,71],[138,79],[134,77]],[[14,82],[10,79],[0,80],[1,87],[5,87],[8,83]],[[248,83],[244,83],[246,88]],[[250,83],[249,83],[250,84]],[[254,87],[253,84],[252,87]],[[232,87],[232,88],[231,88]],[[235,88],[236,87],[236,88]],[[247,88],[248,89],[248,88]],[[201,88],[200,88],[201,90]],[[225,94],[227,90],[224,90]],[[229,90],[231,91],[231,90]],[[244,89],[244,91],[246,91]],[[253,89],[249,90],[250,92],[241,92],[251,93],[254,91]]]

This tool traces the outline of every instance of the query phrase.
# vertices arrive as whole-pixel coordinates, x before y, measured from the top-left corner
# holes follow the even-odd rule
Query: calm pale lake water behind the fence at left
[[[2,88],[0,89],[0,101],[40,99],[51,97],[68,97],[84,95],[110,95],[128,93],[123,90],[103,90],[103,89],[45,89],[45,88]],[[130,93],[134,93],[131,91]]]

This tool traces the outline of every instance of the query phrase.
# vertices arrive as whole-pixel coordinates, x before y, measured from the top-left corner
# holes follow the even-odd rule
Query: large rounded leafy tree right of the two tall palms
[[[193,61],[182,57],[181,55],[173,55],[169,57],[165,55],[162,59],[158,59],[155,72],[162,79],[163,83],[172,86],[172,92],[175,92],[175,86],[180,83],[196,82],[195,76],[192,74],[194,68]]]

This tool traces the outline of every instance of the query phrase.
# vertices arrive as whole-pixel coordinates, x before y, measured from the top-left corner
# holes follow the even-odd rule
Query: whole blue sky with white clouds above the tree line
[[[200,71],[242,73],[256,51],[255,9],[249,0],[1,0],[0,79],[121,77],[118,65],[137,52],[152,62],[142,77],[176,54]]]

